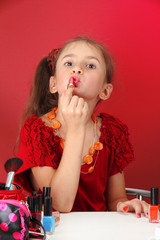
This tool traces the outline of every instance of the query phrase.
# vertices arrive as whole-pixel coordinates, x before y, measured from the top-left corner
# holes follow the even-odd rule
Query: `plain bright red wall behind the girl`
[[[159,186],[160,3],[157,0],[1,0],[0,181],[40,58],[77,35],[104,42],[116,61],[114,93],[100,110],[127,123],[136,161],[126,184]]]

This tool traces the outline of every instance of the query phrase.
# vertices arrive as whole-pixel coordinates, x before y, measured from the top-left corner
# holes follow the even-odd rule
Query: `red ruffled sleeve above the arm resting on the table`
[[[100,141],[110,150],[108,173],[111,176],[122,172],[134,160],[134,152],[127,126],[109,114],[101,114],[100,117],[102,118]]]

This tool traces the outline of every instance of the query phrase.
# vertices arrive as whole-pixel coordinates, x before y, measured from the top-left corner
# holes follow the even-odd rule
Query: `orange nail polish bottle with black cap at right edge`
[[[149,222],[159,223],[159,191],[158,188],[151,188],[151,203],[149,206]]]

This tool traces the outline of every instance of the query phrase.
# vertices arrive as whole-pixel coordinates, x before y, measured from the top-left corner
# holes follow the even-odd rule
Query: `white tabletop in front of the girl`
[[[61,214],[53,240],[148,240],[160,223],[143,215],[118,212],[73,212]]]

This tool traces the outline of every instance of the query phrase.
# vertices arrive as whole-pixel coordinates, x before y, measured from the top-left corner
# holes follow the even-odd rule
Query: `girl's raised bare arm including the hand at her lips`
[[[88,114],[88,105],[82,99],[71,98],[72,89],[68,89],[62,110],[66,123],[65,148],[58,168],[33,167],[32,182],[43,189],[51,186],[53,208],[60,212],[70,212],[78,189],[82,150],[85,138],[85,127]]]

